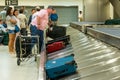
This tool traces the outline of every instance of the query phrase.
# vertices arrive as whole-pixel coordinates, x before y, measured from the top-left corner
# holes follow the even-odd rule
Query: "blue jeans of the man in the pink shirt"
[[[41,52],[42,45],[43,45],[43,40],[44,40],[44,31],[38,30],[36,26],[30,25],[30,31],[32,36],[39,36],[39,52]],[[37,40],[35,38],[32,38],[32,42],[36,42]],[[32,45],[33,47],[34,45]]]

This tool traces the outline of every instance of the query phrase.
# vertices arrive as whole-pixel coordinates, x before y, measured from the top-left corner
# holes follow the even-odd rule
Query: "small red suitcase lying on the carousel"
[[[65,44],[63,41],[54,42],[52,44],[47,45],[47,53],[58,51],[60,49],[63,49],[64,47],[65,47]]]

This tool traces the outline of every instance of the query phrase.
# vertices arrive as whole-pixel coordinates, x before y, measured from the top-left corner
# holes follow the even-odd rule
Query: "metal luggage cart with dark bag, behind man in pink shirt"
[[[36,46],[36,47],[35,47]],[[17,65],[39,54],[39,36],[20,35],[16,39]]]

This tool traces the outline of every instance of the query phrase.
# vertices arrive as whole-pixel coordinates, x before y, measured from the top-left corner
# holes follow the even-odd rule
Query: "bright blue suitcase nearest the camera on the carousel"
[[[76,72],[77,64],[74,55],[49,60],[45,65],[47,76],[50,79],[56,79],[60,76],[69,75]]]

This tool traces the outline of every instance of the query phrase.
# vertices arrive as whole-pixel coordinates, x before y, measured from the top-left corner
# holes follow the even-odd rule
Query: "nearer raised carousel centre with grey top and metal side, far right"
[[[120,28],[87,28],[87,34],[120,49]]]

